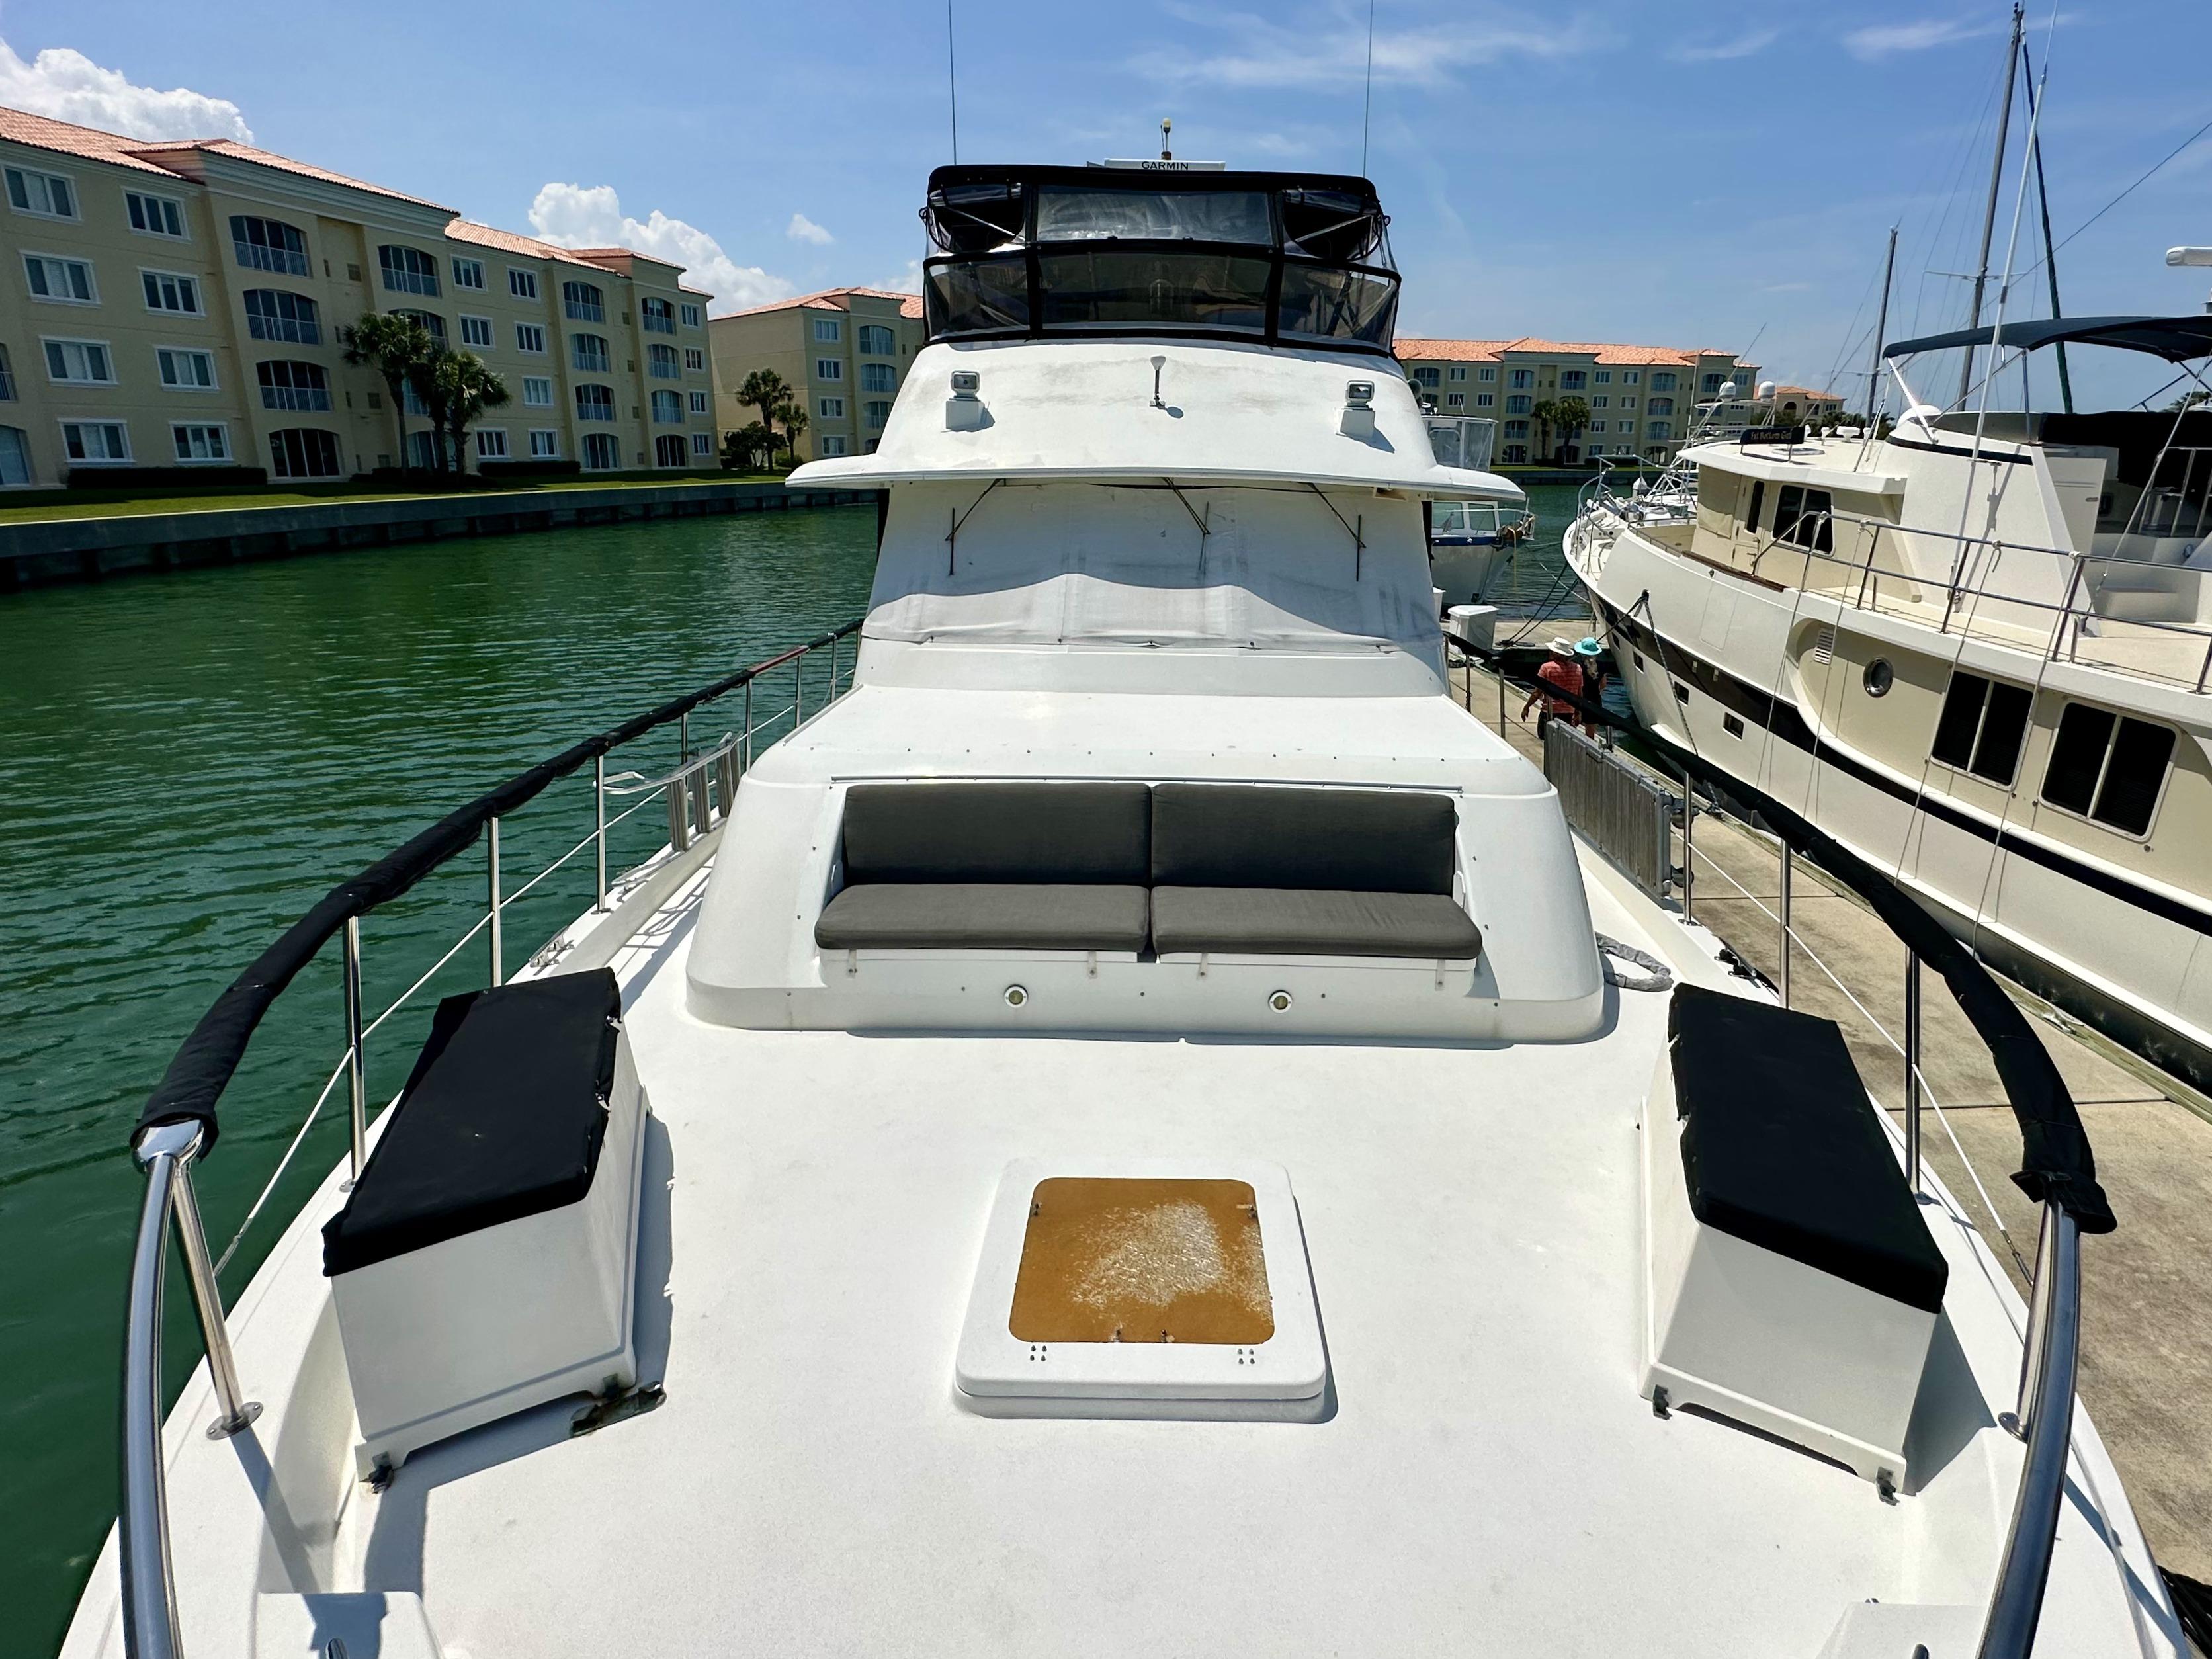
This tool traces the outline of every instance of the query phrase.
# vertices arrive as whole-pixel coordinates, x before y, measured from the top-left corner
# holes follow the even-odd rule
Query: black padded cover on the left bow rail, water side
[[[553,783],[568,776],[586,761],[628,743],[633,737],[644,737],[655,726],[668,726],[670,721],[690,714],[701,703],[710,703],[717,697],[737,690],[750,679],[787,664],[801,653],[816,650],[818,646],[827,646],[832,639],[843,639],[845,635],[858,630],[858,622],[847,622],[843,628],[814,635],[803,646],[792,646],[781,657],[770,657],[768,661],[752,664],[750,668],[739,668],[734,675],[723,675],[712,686],[684,692],[684,697],[670,699],[659,708],[648,708],[644,714],[635,714],[622,726],[599,732],[597,737],[586,737],[582,743],[564,748],[551,761],[540,761],[529,772],[515,772],[515,776],[507,779],[507,783],[489,794],[476,796],[469,805],[453,807],[407,845],[387,852],[352,880],[341,880],[323,894],[314,909],[292,922],[292,927],[288,927],[274,945],[261,951],[261,956],[257,956],[248,969],[239,973],[239,978],[234,978],[219,998],[215,998],[215,1006],[199,1015],[199,1024],[192,1026],[192,1033],[177,1046],[177,1053],[170,1055],[168,1071],[161,1073],[161,1084],[139,1108],[139,1119],[131,1126],[131,1139],[137,1141],[137,1137],[155,1124],[199,1124],[199,1152],[201,1157],[212,1152],[219,1128],[215,1119],[215,1102],[219,1102],[223,1091],[230,1086],[230,1077],[237,1073],[239,1060],[246,1057],[246,1044],[252,1042],[254,1029],[261,1024],[261,1015],[265,1015],[270,1004],[283,995],[285,987],[292,984],[299,971],[307,967],[332,938],[336,938],[349,916],[367,916],[378,905],[398,898],[447,858],[467,852],[484,832],[487,821],[504,818],[515,807],[535,801]]]

